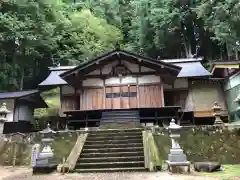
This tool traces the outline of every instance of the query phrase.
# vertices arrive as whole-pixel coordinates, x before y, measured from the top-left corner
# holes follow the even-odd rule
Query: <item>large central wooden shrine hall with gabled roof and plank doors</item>
[[[164,125],[171,118],[180,124],[210,122],[213,103],[224,103],[200,58],[157,60],[115,49],[78,66],[49,69],[39,87],[60,87],[59,116],[75,128]]]

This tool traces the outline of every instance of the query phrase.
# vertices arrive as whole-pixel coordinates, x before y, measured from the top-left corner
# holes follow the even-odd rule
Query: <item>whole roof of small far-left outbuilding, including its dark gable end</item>
[[[1,92],[0,99],[18,99],[33,103],[34,108],[47,108],[48,105],[40,96],[39,90],[26,90],[15,92]]]

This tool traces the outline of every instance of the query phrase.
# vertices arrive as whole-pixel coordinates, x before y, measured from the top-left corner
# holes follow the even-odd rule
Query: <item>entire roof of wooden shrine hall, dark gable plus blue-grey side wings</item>
[[[121,50],[123,54],[134,56],[139,59],[147,59],[151,61],[155,66],[165,65],[170,68],[178,68],[180,72],[177,77],[206,77],[211,76],[212,74],[207,71],[201,64],[202,58],[181,58],[181,59],[163,59],[163,60],[155,60],[152,58],[142,57],[140,55],[136,55],[130,52],[126,52]],[[117,54],[117,51],[108,52],[98,58],[95,58],[91,61],[87,61],[81,63],[79,66],[58,66],[58,67],[50,67],[50,75],[39,84],[39,86],[54,86],[54,85],[66,85],[68,84],[65,80],[63,80],[60,76],[65,76],[67,74],[71,74],[76,70],[80,70],[81,68],[85,68],[88,65],[96,63],[97,60],[101,60],[104,57],[111,56],[113,54]]]

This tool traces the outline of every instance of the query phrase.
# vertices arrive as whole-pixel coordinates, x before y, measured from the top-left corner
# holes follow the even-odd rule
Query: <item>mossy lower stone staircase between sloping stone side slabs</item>
[[[142,129],[89,132],[75,171],[145,171]]]

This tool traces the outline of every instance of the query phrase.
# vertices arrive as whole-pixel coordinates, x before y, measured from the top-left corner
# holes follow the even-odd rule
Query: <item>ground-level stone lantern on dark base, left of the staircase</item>
[[[53,141],[52,135],[56,132],[50,128],[48,123],[47,128],[40,131],[40,133],[43,135],[42,143],[44,147],[36,159],[33,173],[51,173],[57,168],[57,164],[54,161],[54,153],[50,146]]]

